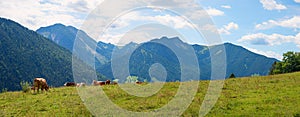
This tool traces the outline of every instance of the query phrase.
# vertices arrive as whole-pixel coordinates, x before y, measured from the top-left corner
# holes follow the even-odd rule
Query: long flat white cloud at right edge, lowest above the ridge
[[[281,45],[283,43],[295,43],[300,48],[300,33],[295,36],[292,35],[281,35],[271,34],[267,35],[264,33],[249,34],[241,37],[238,42],[249,42],[254,45]]]

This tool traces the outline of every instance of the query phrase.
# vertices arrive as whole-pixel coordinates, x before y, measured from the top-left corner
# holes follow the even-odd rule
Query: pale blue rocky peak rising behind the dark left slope
[[[74,42],[77,36],[77,50],[85,50],[89,53],[81,53],[81,54],[93,54],[97,50],[97,52],[100,52],[101,54],[97,54],[96,57],[100,58],[100,64],[104,64],[109,61],[109,51],[102,51],[103,49],[106,49],[104,47],[106,46],[97,46],[97,42],[92,39],[90,36],[88,36],[84,31],[78,30],[77,28],[73,26],[65,26],[63,24],[54,24],[47,27],[41,27],[38,30],[36,30],[37,33],[40,35],[43,35],[44,37],[52,40],[53,42],[57,43],[58,45],[70,50],[73,52],[74,48]],[[109,47],[109,44],[107,44]],[[101,47],[101,48],[97,48]],[[96,49],[97,48],[97,49]],[[96,50],[95,50],[96,49]],[[98,51],[99,50],[99,51]],[[102,56],[103,55],[103,56]],[[81,56],[88,56],[88,55],[81,55]],[[90,59],[86,59],[82,57],[84,61],[91,61]],[[92,63],[89,63],[92,64]]]

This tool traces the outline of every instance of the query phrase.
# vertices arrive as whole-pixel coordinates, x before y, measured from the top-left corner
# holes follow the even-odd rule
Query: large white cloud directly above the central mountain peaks
[[[162,25],[162,27],[158,25]],[[145,28],[145,26],[146,27],[148,26],[148,28]],[[151,26],[156,27],[155,30],[153,29],[153,27],[150,28]],[[174,36],[174,34],[169,34],[170,31],[168,31],[168,29],[165,29],[163,26],[167,26],[169,28],[173,27],[174,30],[178,30],[178,29],[191,28],[192,24],[186,21],[183,17],[177,15],[160,14],[160,15],[152,16],[152,15],[147,15],[144,12],[134,11],[126,15],[123,15],[122,17],[115,20],[110,25],[110,27],[107,28],[105,34],[102,35],[101,38],[95,38],[95,39],[98,41],[110,42],[117,45],[124,45],[126,43],[129,43],[130,41],[136,43],[144,42],[146,39],[149,40],[154,38],[155,34],[156,36],[162,36],[162,35]],[[134,27],[138,28],[138,30],[132,32],[133,30],[136,30]],[[123,39],[120,40],[121,38]],[[155,38],[159,38],[159,37],[155,37]]]

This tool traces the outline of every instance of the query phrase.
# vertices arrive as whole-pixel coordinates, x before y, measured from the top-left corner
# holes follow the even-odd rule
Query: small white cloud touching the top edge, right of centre
[[[286,6],[278,4],[275,0],[260,0],[260,3],[263,5],[264,9],[267,10],[284,10],[287,9]]]

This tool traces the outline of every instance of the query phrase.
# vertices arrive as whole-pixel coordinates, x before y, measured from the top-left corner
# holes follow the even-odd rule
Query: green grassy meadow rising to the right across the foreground
[[[183,116],[198,116],[208,81],[201,81],[193,103]],[[178,83],[167,83],[149,98],[130,96],[118,86],[104,90],[111,100],[131,111],[149,111],[166,104],[177,91]],[[143,105],[145,103],[145,105]],[[294,116],[300,114],[300,72],[228,79],[222,94],[208,116]],[[0,116],[91,116],[75,88],[55,88],[51,92],[32,94],[7,92],[0,94]]]

